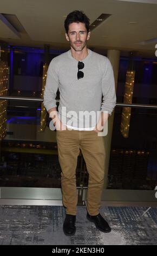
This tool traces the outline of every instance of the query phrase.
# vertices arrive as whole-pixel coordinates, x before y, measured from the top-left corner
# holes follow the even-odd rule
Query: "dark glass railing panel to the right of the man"
[[[157,109],[115,108],[108,188],[154,190],[157,184]],[[122,120],[122,115],[125,118]],[[122,127],[129,127],[127,137]]]

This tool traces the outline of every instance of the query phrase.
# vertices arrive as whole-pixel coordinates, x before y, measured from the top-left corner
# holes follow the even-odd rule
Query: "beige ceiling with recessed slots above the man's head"
[[[9,44],[68,47],[64,36],[64,20],[75,9],[83,10],[90,18],[90,23],[102,13],[112,14],[91,32],[89,46],[154,51],[155,42],[145,45],[139,43],[157,38],[157,5],[129,1],[14,0],[12,4],[11,0],[5,0],[1,3],[0,13],[16,15],[24,32],[19,40],[1,22],[0,39],[5,39]]]

